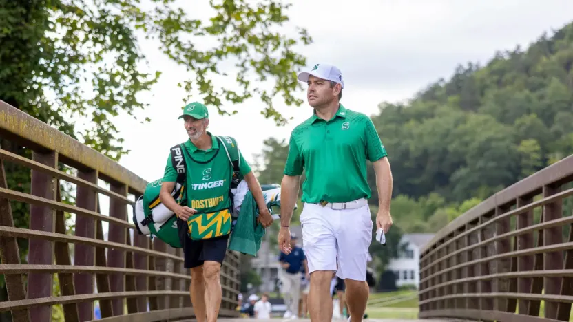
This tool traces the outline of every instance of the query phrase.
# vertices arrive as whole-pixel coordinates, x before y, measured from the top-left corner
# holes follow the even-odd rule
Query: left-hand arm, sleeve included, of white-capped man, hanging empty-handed
[[[280,184],[280,230],[278,245],[284,253],[291,253],[291,218],[298,199],[300,175],[304,169],[304,161],[293,134],[289,143],[289,155],[284,166],[284,177]]]

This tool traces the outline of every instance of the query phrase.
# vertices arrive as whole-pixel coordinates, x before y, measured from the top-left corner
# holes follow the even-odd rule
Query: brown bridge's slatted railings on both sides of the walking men
[[[2,101],[0,144],[1,322],[48,322],[54,311],[92,321],[94,301],[101,321],[194,318],[180,250],[138,235],[128,219],[145,180]],[[437,233],[421,254],[419,319],[569,321],[572,181],[573,155]],[[14,222],[21,215],[28,228]],[[229,252],[222,266],[221,321],[238,318],[239,259]]]

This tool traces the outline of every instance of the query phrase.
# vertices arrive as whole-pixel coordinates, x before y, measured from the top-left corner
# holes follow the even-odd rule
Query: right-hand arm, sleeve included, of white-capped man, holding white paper
[[[374,124],[370,118],[366,122],[366,157],[373,162],[376,175],[376,188],[378,191],[378,213],[376,215],[376,227],[382,228],[384,233],[392,226],[390,215],[390,200],[392,200],[393,178],[388,161],[388,153],[378,136]]]

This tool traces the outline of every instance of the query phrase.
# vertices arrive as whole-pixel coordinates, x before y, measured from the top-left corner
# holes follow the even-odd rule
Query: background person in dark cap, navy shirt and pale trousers
[[[304,276],[309,279],[306,255],[304,255],[304,250],[297,246],[297,240],[298,236],[291,233],[291,252],[289,254],[280,253],[278,258],[282,267],[282,270],[279,270],[279,277],[282,281],[282,297],[284,304],[287,305],[287,311],[284,312],[285,319],[298,317],[301,272],[304,272]]]

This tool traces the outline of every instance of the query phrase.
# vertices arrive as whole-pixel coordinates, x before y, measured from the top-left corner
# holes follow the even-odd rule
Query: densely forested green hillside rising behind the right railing
[[[435,232],[573,153],[573,24],[484,66],[460,65],[407,104],[380,104],[372,119],[392,164],[395,223]],[[288,147],[266,144],[261,181],[280,182]],[[372,169],[369,177],[375,189]]]

